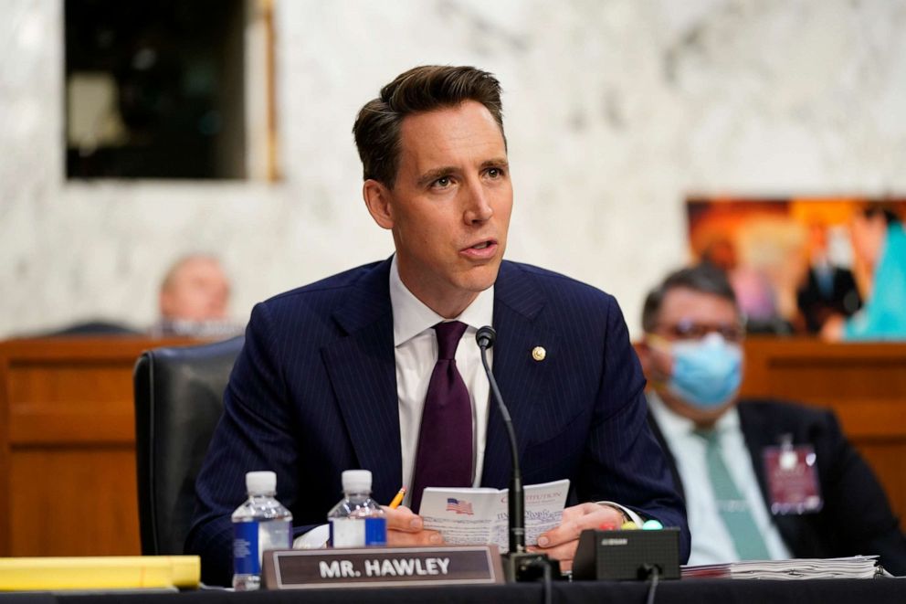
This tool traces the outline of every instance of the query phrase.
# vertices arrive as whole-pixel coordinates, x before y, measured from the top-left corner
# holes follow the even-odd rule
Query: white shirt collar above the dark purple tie
[[[399,278],[396,255],[390,264],[390,305],[394,313],[394,346],[405,344],[416,335],[446,321],[418,300]],[[481,291],[475,300],[456,317],[466,323],[472,331],[483,325],[490,325],[494,318],[494,286]]]

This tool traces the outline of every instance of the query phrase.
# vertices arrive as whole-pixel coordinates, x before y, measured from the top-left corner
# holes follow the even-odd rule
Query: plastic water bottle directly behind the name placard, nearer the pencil
[[[371,498],[371,472],[342,472],[340,503],[327,514],[331,525],[332,547],[387,545],[387,519],[384,510]]]

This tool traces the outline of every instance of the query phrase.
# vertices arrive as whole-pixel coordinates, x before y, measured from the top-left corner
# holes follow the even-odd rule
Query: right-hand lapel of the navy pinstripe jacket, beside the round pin
[[[510,410],[520,456],[535,419],[536,401],[544,400],[551,380],[546,377],[550,364],[532,360],[532,349],[543,346],[548,355],[556,354],[557,337],[539,326],[536,319],[544,306],[543,294],[532,275],[510,262],[500,266],[494,285],[493,372],[503,402]],[[497,404],[491,397],[488,436],[485,444],[483,486],[502,488],[510,482],[510,443]]]

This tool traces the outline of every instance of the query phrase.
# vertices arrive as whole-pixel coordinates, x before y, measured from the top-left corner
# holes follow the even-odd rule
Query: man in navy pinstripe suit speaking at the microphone
[[[616,301],[503,261],[512,187],[498,81],[474,68],[411,69],[363,107],[353,132],[365,205],[391,231],[395,255],[253,310],[196,484],[186,547],[203,556],[205,582],[230,576],[229,514],[245,498],[247,471],[277,472],[302,540],[340,498],[343,470],[371,470],[382,502],[412,485],[434,327],[449,320],[465,325],[455,365],[472,418],[461,486],[502,488],[511,473],[475,344],[492,323],[493,371],[524,480],[571,481],[562,525],[533,546],[569,567],[583,529],[655,518],[679,526],[685,560],[683,504],[648,429],[644,379]],[[389,545],[442,541],[406,505],[386,514]]]

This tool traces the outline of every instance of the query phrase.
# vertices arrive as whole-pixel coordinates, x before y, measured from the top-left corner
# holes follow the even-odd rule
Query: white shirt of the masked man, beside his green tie
[[[690,565],[718,564],[739,560],[732,536],[723,524],[717,508],[708,462],[705,458],[705,441],[694,433],[695,423],[671,411],[654,391],[646,393],[648,408],[658,421],[664,440],[677,464],[683,491],[686,493],[686,515],[692,535]],[[734,407],[724,413],[714,425],[721,443],[723,461],[736,487],[749,503],[755,525],[764,538],[764,545],[774,560],[785,560],[790,551],[784,544],[776,525],[768,514],[764,496],[752,465],[752,456],[746,447],[740,428],[739,411]]]

